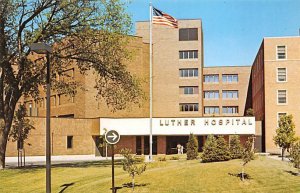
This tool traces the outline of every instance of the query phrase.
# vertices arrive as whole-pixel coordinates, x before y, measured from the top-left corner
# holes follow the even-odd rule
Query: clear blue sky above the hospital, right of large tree
[[[133,22],[149,20],[149,2],[131,0],[128,12]],[[252,65],[263,37],[299,35],[300,0],[152,0],[152,4],[176,19],[202,19],[205,66]]]

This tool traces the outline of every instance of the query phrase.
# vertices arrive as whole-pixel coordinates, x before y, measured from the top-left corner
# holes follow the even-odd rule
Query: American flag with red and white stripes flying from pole
[[[173,28],[178,28],[178,21],[169,14],[166,14],[153,7],[153,24],[167,25]]]

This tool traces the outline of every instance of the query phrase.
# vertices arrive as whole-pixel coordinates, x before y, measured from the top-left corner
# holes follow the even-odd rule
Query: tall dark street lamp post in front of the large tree
[[[50,54],[52,48],[45,43],[33,43],[30,50],[37,54],[46,54],[47,60],[47,100],[46,100],[46,193],[51,192],[51,141],[50,141]]]

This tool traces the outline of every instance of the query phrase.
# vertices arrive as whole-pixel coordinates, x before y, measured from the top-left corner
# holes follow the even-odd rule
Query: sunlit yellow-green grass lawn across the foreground
[[[136,177],[135,192],[198,193],[198,192],[300,192],[300,176],[286,162],[258,157],[246,166],[249,179],[238,177],[241,160],[199,163],[197,160],[156,161],[145,173]],[[115,167],[115,185],[120,192],[132,192],[131,182],[120,161]],[[123,185],[124,184],[124,185]],[[55,165],[52,168],[52,192],[110,193],[110,162],[85,162]],[[0,192],[45,192],[45,169],[6,169],[0,171]]]

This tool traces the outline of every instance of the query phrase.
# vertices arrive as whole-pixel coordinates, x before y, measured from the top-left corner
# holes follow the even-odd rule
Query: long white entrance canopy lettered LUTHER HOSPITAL
[[[149,118],[100,118],[100,134],[149,135]],[[254,135],[254,117],[153,118],[153,135]]]

